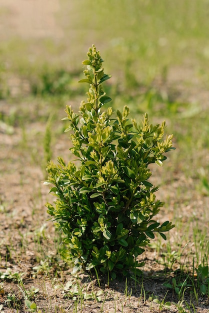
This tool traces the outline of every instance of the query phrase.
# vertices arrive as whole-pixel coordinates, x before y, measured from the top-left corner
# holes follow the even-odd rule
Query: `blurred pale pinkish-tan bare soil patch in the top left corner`
[[[1,0],[0,36],[60,36],[62,31],[55,19],[58,11],[58,0]]]

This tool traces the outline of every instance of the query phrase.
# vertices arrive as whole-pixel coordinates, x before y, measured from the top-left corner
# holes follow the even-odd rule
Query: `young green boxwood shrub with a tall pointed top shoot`
[[[164,232],[174,225],[154,220],[162,202],[155,199],[158,187],[149,181],[150,163],[161,166],[164,153],[173,149],[172,135],[164,138],[165,122],[152,125],[147,114],[143,121],[128,118],[129,108],[114,115],[111,100],[101,83],[102,58],[92,45],[87,53],[85,78],[89,84],[87,101],[81,101],[78,113],[66,106],[74,162],[47,165],[48,180],[57,199],[47,203],[55,226],[64,234],[65,256],[77,270],[95,269],[112,278],[138,270],[137,256],[154,233],[166,239]]]

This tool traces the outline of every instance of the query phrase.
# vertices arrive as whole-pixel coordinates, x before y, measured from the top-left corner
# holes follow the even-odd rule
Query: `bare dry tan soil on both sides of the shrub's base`
[[[34,100],[36,101],[36,100]],[[38,101],[38,100],[37,100]],[[41,120],[41,109],[37,118],[35,103],[20,101],[18,103],[0,102],[0,112],[4,116],[9,116],[12,108],[17,109],[19,114],[25,114],[25,107],[32,105],[29,109],[30,118],[25,122],[24,127],[18,122],[12,128],[11,133],[2,127],[0,129],[0,273],[3,275],[10,270],[11,273],[22,273],[24,288],[29,290],[31,286],[39,288],[34,295],[34,301],[41,312],[61,312],[75,310],[75,299],[70,296],[70,288],[63,289],[67,281],[76,285],[75,278],[70,275],[70,268],[57,255],[58,233],[55,232],[53,224],[48,219],[44,203],[52,200],[48,195],[47,186],[43,186],[45,179],[44,155],[42,137],[45,131],[45,121]],[[63,108],[57,114],[60,120],[64,115]],[[69,157],[69,141],[66,134],[59,131],[53,142],[54,158],[58,155]],[[165,166],[172,166],[168,158]],[[164,177],[165,183],[160,186],[157,196],[161,200],[169,203],[169,209],[163,208],[159,215],[159,220],[179,220],[183,225],[192,227],[189,218],[191,212],[194,221],[199,225],[209,220],[208,197],[198,193],[193,188],[196,183],[195,178],[185,177],[178,164],[173,177]],[[160,172],[153,168],[152,181],[160,183]],[[185,183],[186,191],[183,192]],[[190,188],[188,187],[190,185]],[[181,196],[179,198],[179,190]],[[190,191],[189,191],[190,190]],[[169,195],[169,198],[168,198]],[[198,208],[198,212],[197,212]],[[200,227],[200,226],[199,226]],[[143,254],[145,266],[143,268],[143,279],[135,284],[133,280],[128,281],[125,289],[125,281],[119,282],[117,279],[110,282],[107,288],[105,280],[101,280],[101,286],[95,278],[80,274],[79,286],[83,292],[87,292],[90,299],[82,304],[82,312],[158,312],[159,305],[153,302],[153,297],[163,299],[167,288],[163,286],[166,281],[171,281],[174,274],[184,275],[180,271],[180,264],[187,263],[192,267],[192,260],[186,255],[194,249],[193,240],[184,242],[183,227],[182,233],[177,233],[175,228],[170,233],[169,242],[180,242],[181,249],[186,245],[181,258],[176,260],[169,272],[163,265],[161,250],[166,251],[166,245],[161,242],[160,251],[156,252],[156,247],[148,247]],[[45,267],[40,266],[45,262]],[[35,268],[36,267],[36,268]],[[174,273],[174,270],[176,272]],[[4,277],[5,282],[1,288],[0,304],[5,312],[28,311],[24,304],[24,296],[21,286],[17,284],[14,277]],[[142,284],[143,281],[143,284]],[[86,291],[87,290],[87,291]],[[96,292],[102,290],[101,301],[96,301]],[[8,296],[15,294],[15,302],[8,302]],[[76,292],[75,292],[76,294]],[[74,294],[74,296],[75,296]],[[185,294],[185,300],[189,303],[189,293]],[[105,301],[103,302],[103,300]],[[7,302],[6,302],[7,301]],[[166,301],[178,302],[177,296],[170,292],[166,296]],[[78,301],[79,302],[79,301]],[[194,303],[196,312],[208,311],[208,299],[201,297],[198,303]],[[9,307],[11,306],[11,307]],[[14,307],[12,307],[14,306]],[[80,303],[77,305],[77,311]],[[162,307],[162,311],[176,312],[176,306],[171,305],[169,310]]]

